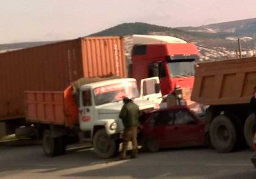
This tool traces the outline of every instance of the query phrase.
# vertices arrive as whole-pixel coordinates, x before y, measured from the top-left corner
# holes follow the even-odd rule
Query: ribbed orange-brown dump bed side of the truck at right
[[[198,64],[191,99],[207,105],[244,104],[255,86],[255,57]]]

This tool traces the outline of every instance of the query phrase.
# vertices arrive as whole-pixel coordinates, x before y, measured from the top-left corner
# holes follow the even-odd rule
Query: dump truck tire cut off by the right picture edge
[[[253,150],[253,136],[256,132],[256,117],[255,114],[251,114],[247,117],[244,124],[244,137],[246,139],[247,144]]]

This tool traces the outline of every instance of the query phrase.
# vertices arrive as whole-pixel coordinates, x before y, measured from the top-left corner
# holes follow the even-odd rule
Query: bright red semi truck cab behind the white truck
[[[163,95],[172,93],[177,85],[192,90],[194,63],[199,58],[197,47],[182,40],[179,43],[156,42],[133,46],[132,77],[137,79],[138,85],[143,78],[159,77]]]

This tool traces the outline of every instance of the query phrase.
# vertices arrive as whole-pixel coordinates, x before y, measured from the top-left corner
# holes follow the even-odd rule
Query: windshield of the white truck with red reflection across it
[[[108,102],[120,101],[124,97],[138,98],[139,92],[136,81],[101,86],[94,90],[95,104],[102,105]]]

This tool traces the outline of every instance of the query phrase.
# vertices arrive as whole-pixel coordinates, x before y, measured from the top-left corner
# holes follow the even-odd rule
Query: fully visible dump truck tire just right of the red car
[[[210,126],[212,145],[221,153],[228,153],[234,149],[237,142],[236,128],[229,117],[216,116]]]

